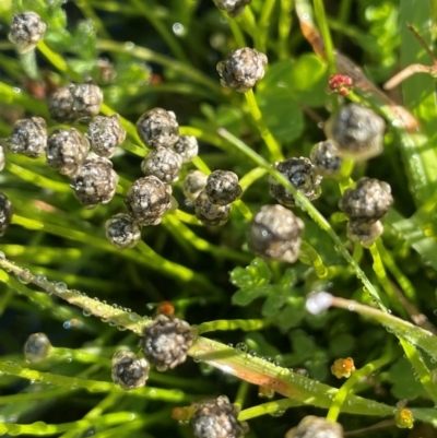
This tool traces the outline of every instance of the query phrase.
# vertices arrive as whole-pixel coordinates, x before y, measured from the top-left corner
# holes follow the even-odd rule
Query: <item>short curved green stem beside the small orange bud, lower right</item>
[[[365,365],[363,368],[355,370],[352,376],[346,380],[346,382],[340,388],[339,392],[335,394],[334,399],[332,400],[331,407],[328,411],[327,419],[335,423],[341,407],[344,404],[344,401],[347,398],[349,392],[353,388],[355,383],[359,380],[365,378],[366,376],[370,376],[377,369],[383,367],[385,365],[389,364],[393,360],[392,348],[386,348],[385,354],[377,360],[370,362],[369,364]]]

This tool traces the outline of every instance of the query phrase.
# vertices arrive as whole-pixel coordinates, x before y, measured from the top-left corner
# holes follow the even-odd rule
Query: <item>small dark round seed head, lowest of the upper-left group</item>
[[[106,237],[118,249],[133,248],[141,239],[141,226],[127,213],[106,222]]]

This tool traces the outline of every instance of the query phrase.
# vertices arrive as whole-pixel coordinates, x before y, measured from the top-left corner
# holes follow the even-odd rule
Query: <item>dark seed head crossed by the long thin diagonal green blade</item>
[[[290,158],[285,162],[275,163],[274,167],[281,171],[293,184],[296,189],[300,190],[310,201],[320,197],[321,176],[316,171],[312,163],[305,157]],[[270,194],[283,205],[295,206],[296,201],[284,186],[277,182],[273,177],[269,177]]]

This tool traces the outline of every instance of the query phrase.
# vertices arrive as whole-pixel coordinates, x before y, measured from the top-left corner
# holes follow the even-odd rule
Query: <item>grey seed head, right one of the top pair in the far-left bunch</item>
[[[87,122],[101,113],[103,93],[98,85],[91,82],[70,84],[70,93],[73,98],[72,109],[78,121]]]

